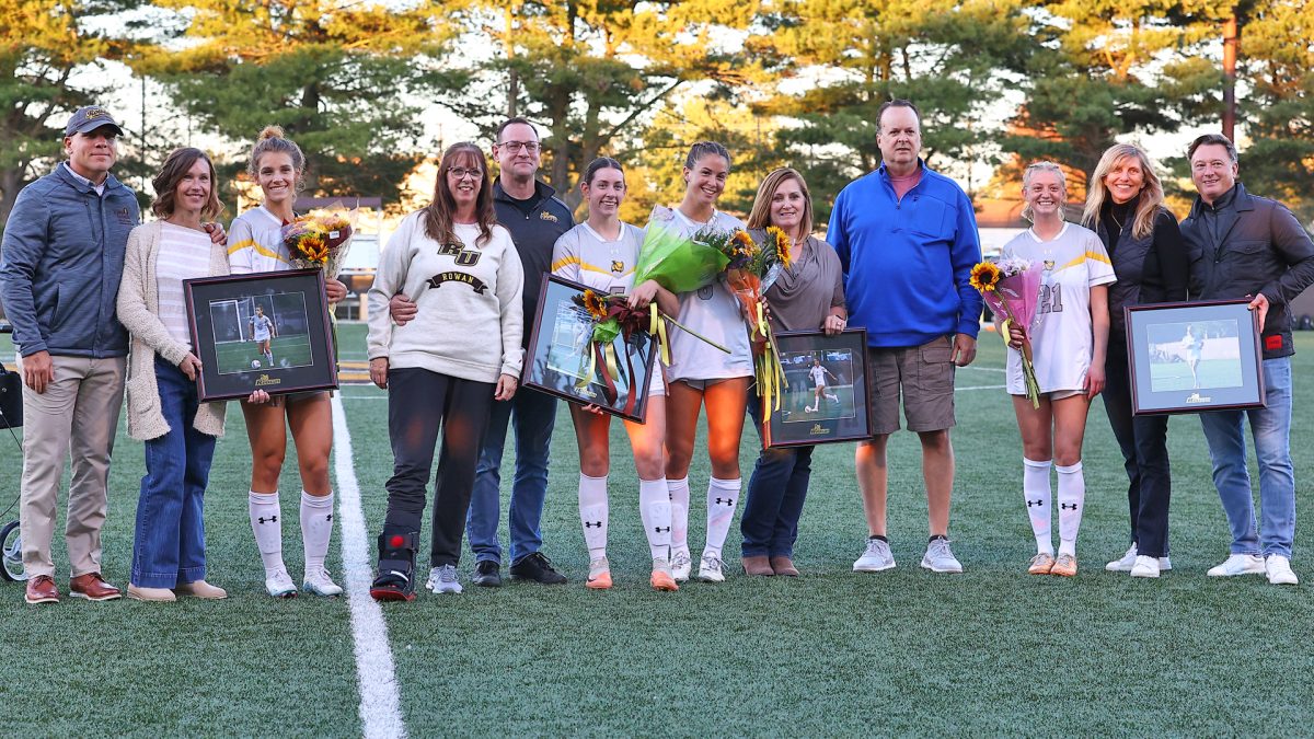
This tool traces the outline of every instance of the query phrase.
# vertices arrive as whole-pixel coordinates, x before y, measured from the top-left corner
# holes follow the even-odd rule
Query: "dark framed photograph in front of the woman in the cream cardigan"
[[[321,270],[185,280],[201,402],[338,388]]]

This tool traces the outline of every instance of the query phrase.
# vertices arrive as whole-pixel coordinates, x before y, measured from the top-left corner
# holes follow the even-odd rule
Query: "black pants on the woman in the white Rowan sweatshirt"
[[[470,510],[474,467],[487,434],[493,383],[476,383],[417,367],[388,371],[388,437],[393,476],[386,522],[420,530],[424,484],[434,468],[439,427],[443,450],[434,481],[434,567],[455,565]]]

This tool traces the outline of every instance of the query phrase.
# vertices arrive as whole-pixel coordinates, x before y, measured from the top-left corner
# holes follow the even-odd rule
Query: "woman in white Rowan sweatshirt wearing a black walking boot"
[[[443,154],[434,201],[388,239],[369,288],[369,376],[388,389],[393,476],[371,594],[411,600],[424,484],[439,429],[428,588],[460,593],[456,563],[474,467],[494,400],[520,376],[524,276],[511,234],[498,225],[484,153],[456,143]],[[393,323],[388,301],[406,293],[419,313]]]

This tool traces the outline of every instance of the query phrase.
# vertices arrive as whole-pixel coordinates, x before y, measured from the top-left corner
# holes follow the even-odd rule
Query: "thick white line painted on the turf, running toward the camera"
[[[401,696],[388,646],[388,623],[378,602],[369,597],[369,536],[360,508],[360,485],[351,454],[351,434],[342,398],[332,398],[334,472],[338,477],[338,521],[342,526],[342,564],[351,606],[351,634],[356,642],[356,682],[360,688],[360,723],[365,739],[406,736]]]

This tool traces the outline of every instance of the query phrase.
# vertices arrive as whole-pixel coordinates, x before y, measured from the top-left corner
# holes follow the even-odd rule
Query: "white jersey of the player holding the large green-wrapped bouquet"
[[[674,210],[679,234],[691,237],[706,224],[690,220]],[[744,222],[720,210],[712,212],[711,224],[723,230],[742,229]],[[708,339],[731,350],[729,354],[671,326],[669,376],[674,380],[727,380],[753,375],[753,345],[748,339],[748,326],[740,313],[738,300],[725,283],[717,279],[711,285],[692,292],[678,293],[677,321]]]

